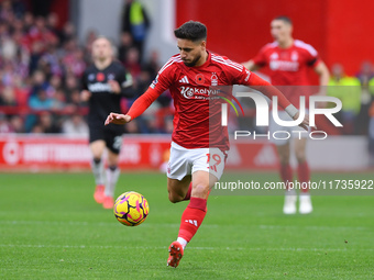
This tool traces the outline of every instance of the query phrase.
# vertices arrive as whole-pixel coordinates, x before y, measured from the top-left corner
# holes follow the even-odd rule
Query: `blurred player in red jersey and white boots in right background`
[[[288,86],[282,87],[282,92],[296,107],[299,107],[300,96],[305,96],[307,88],[292,86],[308,86],[310,85],[308,70],[312,68],[319,76],[320,91],[319,94],[324,94],[324,88],[329,82],[329,70],[319,58],[317,51],[309,44],[299,40],[294,40],[292,36],[293,23],[287,16],[277,16],[271,23],[271,33],[275,42],[265,45],[260,53],[251,60],[244,63],[246,69],[254,71],[262,67],[270,68],[270,78],[272,85]],[[307,99],[307,97],[306,97]],[[308,105],[308,104],[307,104]],[[282,120],[290,120],[286,112],[279,112]],[[273,117],[270,123],[271,134],[275,131],[298,131],[300,127],[283,127],[277,125]],[[290,133],[298,136],[298,133]],[[306,143],[308,134],[300,134],[301,138],[295,138],[294,148],[298,161],[297,175],[300,182],[310,180],[309,166],[306,158]],[[304,136],[304,137],[302,137]],[[284,182],[293,181],[293,170],[289,165],[289,139],[272,139],[277,147],[279,156],[279,172]],[[286,191],[285,204],[283,212],[285,214],[296,213],[296,192],[295,190]],[[312,205],[308,189],[301,190],[299,200],[299,213],[308,214],[312,212]]]

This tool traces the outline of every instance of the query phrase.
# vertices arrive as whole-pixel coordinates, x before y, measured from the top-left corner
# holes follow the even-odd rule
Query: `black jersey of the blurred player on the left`
[[[120,112],[122,94],[112,92],[109,80],[117,80],[121,88],[131,85],[131,77],[124,67],[112,61],[106,69],[89,66],[82,76],[82,88],[91,92],[89,99],[89,124],[102,125],[110,112]],[[114,127],[114,125],[112,125]],[[119,128],[119,127],[118,127]],[[122,127],[123,128],[123,127]]]

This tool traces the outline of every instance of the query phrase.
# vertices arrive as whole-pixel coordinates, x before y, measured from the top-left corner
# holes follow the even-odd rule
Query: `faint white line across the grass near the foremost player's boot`
[[[43,245],[43,244],[0,244],[0,247],[22,247],[22,248],[72,248],[72,249],[162,249],[163,246],[99,246],[99,245]],[[243,247],[193,247],[188,250],[249,250],[249,251],[374,251],[374,248],[243,248]]]

